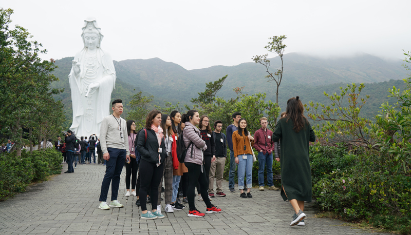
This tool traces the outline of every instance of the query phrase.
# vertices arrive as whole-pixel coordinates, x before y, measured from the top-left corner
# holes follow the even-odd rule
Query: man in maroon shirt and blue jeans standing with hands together
[[[265,116],[260,118],[261,128],[254,133],[254,148],[258,151],[258,185],[264,191],[264,168],[267,165],[267,181],[269,190],[279,190],[273,182],[273,132],[267,129],[268,120]]]

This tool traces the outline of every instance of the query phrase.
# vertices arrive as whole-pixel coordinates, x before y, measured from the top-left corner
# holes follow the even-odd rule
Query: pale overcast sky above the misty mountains
[[[404,58],[411,50],[411,1],[3,1],[13,25],[48,50],[74,56],[95,16],[113,60],[159,57],[185,69],[252,62],[268,37],[287,35],[285,53]],[[270,54],[274,57],[274,54]]]

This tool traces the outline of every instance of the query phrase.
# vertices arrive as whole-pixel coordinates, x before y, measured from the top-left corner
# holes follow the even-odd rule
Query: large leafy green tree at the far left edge
[[[54,102],[52,95],[62,90],[49,89],[58,78],[50,74],[56,68],[54,60],[39,57],[47,52],[41,50],[42,44],[30,41],[32,35],[21,26],[9,29],[12,13],[12,9],[0,9],[0,132],[15,141],[20,156],[23,127],[30,127],[31,111]]]

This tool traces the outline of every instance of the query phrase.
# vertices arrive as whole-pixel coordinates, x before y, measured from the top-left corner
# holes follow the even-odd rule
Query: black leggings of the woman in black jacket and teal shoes
[[[140,206],[141,210],[147,210],[147,206],[145,205],[145,198],[147,197],[147,192],[151,189],[151,207],[153,209],[157,209],[157,200],[158,200],[158,185],[160,184],[161,177],[163,176],[163,169],[164,164],[160,164],[160,166],[156,166],[155,163],[150,163],[145,161],[144,159],[140,160],[140,191],[139,191],[139,198],[140,198]]]

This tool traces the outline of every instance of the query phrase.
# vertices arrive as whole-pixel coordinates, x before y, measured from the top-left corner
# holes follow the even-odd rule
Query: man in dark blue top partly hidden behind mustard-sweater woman
[[[234,131],[236,131],[238,128],[238,121],[241,119],[241,113],[234,112],[232,115],[232,118],[233,118],[233,124],[228,126],[226,129],[227,143],[228,143],[228,148],[230,149],[230,173],[228,176],[228,188],[230,189],[230,192],[235,192],[234,176],[235,176],[235,167],[237,164],[234,162],[234,150],[233,150],[232,136],[233,136]]]

